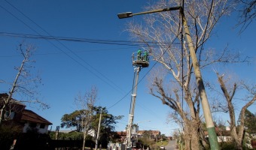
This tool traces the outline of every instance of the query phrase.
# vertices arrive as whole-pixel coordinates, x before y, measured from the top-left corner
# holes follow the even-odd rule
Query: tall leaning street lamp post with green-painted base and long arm
[[[197,55],[196,55],[196,52],[194,49],[194,44],[190,37],[190,31],[187,26],[187,20],[184,17],[183,8],[182,7],[169,7],[169,8],[164,8],[164,9],[145,11],[145,12],[141,12],[141,13],[127,12],[127,13],[119,13],[119,14],[117,14],[117,16],[119,19],[123,19],[123,18],[129,18],[129,17],[133,17],[136,15],[146,14],[146,13],[158,13],[158,12],[171,11],[171,10],[179,10],[179,12],[181,13],[181,16],[183,18],[182,23],[184,25],[184,31],[186,34],[188,47],[189,47],[189,51],[190,51],[190,56],[191,56],[192,64],[194,67],[194,73],[195,73],[196,80],[197,80],[197,88],[199,90],[200,99],[202,101],[203,114],[206,119],[206,127],[207,127],[207,131],[209,133],[210,146],[211,146],[211,149],[218,150],[220,148],[218,145],[218,139],[217,139],[217,135],[215,132],[215,125],[213,124],[213,121],[212,121],[212,113],[210,111],[209,102],[208,102],[208,98],[206,95],[206,89],[205,89],[205,86],[203,85],[203,78],[202,78],[202,75],[200,72],[199,63],[197,61]]]

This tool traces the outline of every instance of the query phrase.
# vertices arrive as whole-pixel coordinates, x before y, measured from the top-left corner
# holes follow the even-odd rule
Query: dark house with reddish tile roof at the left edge
[[[2,109],[4,99],[8,98],[8,94],[0,94],[0,109]],[[37,130],[38,133],[47,133],[50,121],[34,113],[32,110],[26,110],[26,105],[15,99],[11,99],[10,104],[3,111],[3,124],[18,125],[23,133],[28,130]]]

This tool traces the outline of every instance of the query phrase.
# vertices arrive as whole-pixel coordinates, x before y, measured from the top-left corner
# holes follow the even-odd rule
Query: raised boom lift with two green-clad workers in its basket
[[[132,92],[132,101],[130,104],[130,114],[128,127],[126,132],[126,148],[132,148],[132,127],[133,127],[133,118],[134,118],[134,109],[136,104],[136,96],[137,96],[137,85],[139,80],[139,71],[141,68],[148,68],[148,52],[145,51],[145,55],[142,56],[142,51],[139,49],[137,53],[137,58],[134,60],[133,58],[133,66],[135,67],[134,71],[136,74],[135,79],[133,79],[133,92]]]

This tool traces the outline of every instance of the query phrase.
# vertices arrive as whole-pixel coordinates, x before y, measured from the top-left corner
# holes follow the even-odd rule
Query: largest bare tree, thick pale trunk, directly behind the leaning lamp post
[[[146,10],[180,6],[180,1],[159,1]],[[203,44],[212,36],[218,20],[229,13],[227,1],[185,1],[184,16],[197,52],[200,68],[217,62],[232,62],[227,49],[223,52],[204,51]],[[203,146],[201,130],[200,95],[195,83],[193,65],[187,41],[184,40],[181,16],[178,11],[151,13],[143,16],[145,23],[130,23],[127,30],[133,39],[142,42],[142,48],[151,51],[151,58],[159,68],[151,71],[151,95],[173,110],[170,115],[184,124],[185,149]],[[187,106],[187,107],[183,107]],[[193,143],[193,144],[191,144]]]

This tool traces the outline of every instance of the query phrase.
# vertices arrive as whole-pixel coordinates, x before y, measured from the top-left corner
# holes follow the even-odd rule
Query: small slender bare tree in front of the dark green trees
[[[84,132],[83,150],[85,146],[85,139],[88,131],[91,129],[91,123],[93,122],[93,107],[96,103],[97,89],[92,87],[90,92],[85,92],[84,95],[78,94],[75,98],[75,106],[81,115],[81,127]]]

